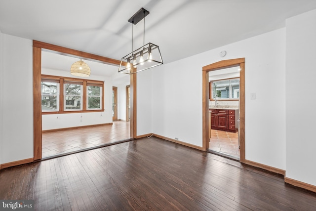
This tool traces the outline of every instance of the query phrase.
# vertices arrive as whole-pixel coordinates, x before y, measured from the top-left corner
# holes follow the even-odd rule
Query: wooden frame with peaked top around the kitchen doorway
[[[209,82],[208,72],[223,68],[240,68],[239,84],[239,143],[240,143],[240,162],[245,163],[245,58],[222,60],[202,67],[202,148],[207,151],[209,147]]]

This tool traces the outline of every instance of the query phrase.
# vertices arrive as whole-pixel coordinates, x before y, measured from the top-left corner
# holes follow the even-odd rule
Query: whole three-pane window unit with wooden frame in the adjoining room
[[[104,82],[41,76],[43,114],[104,111]]]

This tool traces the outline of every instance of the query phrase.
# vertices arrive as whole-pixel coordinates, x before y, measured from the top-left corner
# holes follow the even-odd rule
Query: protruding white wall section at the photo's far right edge
[[[286,21],[286,177],[316,185],[316,10]]]

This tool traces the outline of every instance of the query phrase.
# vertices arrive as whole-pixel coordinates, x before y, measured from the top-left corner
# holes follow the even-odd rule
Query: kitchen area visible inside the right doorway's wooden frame
[[[208,151],[239,160],[239,67],[209,73]]]

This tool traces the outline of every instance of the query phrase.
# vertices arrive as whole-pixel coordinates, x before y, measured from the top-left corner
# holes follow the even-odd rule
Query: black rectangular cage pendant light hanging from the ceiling
[[[144,8],[141,8],[138,12],[136,12],[128,22],[137,24],[140,20],[144,19],[144,42],[145,42],[145,16],[149,14]],[[134,37],[134,31],[133,31]],[[134,39],[132,38],[132,43],[134,46]],[[159,46],[153,44],[151,42],[145,44],[134,50],[133,52],[127,54],[126,56],[122,57],[118,72],[125,73],[125,74],[134,74],[141,72],[143,70],[147,70],[152,67],[156,67],[158,65],[163,64]],[[126,65],[126,66],[125,66]],[[133,68],[135,69],[133,69]],[[134,71],[135,70],[135,71]]]

